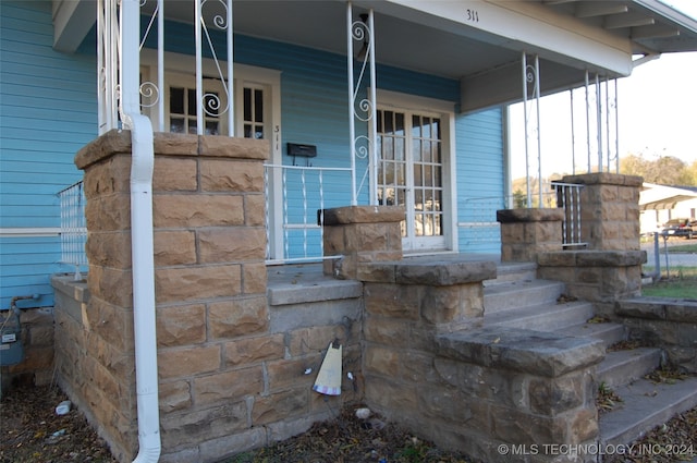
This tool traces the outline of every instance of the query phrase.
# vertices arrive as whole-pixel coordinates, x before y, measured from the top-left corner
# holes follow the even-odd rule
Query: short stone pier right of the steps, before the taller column
[[[540,253],[562,249],[562,209],[505,209],[501,223],[501,260],[536,261]]]

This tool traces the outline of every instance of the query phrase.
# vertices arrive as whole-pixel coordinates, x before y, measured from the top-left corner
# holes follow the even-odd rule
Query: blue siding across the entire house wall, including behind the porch
[[[97,135],[96,58],[93,52],[63,54],[52,50],[53,29],[48,1],[1,1],[0,27],[0,227],[59,227],[56,193],[82,178],[74,167],[75,153]],[[191,53],[191,25],[170,24],[178,32],[168,34],[167,49]],[[88,50],[90,40],[83,50]],[[152,35],[154,37],[154,35]],[[94,49],[94,48],[93,48]],[[224,50],[218,49],[219,54]],[[243,64],[281,71],[282,146],[303,143],[317,146],[318,156],[308,161],[315,167],[351,165],[348,108],[346,101],[346,60],[334,53],[288,44],[235,37],[235,60]],[[457,81],[378,66],[377,87],[457,103]],[[458,221],[472,214],[467,200],[501,196],[503,192],[501,112],[492,110],[456,117],[456,181]],[[357,130],[365,127],[357,126]],[[293,159],[283,156],[284,165]],[[365,170],[358,162],[358,176]],[[308,175],[308,187],[318,182]],[[323,205],[317,197],[302,197],[296,173],[288,176],[288,209],[294,221],[314,223],[315,211],[323,207],[350,204],[347,172],[325,179]],[[367,185],[360,203],[367,200]],[[310,190],[311,191],[311,190]],[[291,232],[291,255],[302,255],[298,240],[303,232]],[[319,234],[308,232],[311,246],[319,246]],[[460,232],[463,252],[498,252],[499,244],[473,245]],[[70,271],[60,266],[58,237],[8,237],[0,242],[0,307],[14,295],[40,294],[42,305],[52,304],[51,273]]]

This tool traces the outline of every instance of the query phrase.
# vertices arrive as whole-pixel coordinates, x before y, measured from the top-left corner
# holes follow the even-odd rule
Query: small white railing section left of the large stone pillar
[[[82,280],[81,269],[87,266],[85,244],[85,192],[77,182],[58,193],[61,203],[61,264],[75,266],[75,281]]]

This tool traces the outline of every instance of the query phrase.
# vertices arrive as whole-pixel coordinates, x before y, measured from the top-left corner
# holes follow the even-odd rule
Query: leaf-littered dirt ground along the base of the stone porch
[[[28,388],[5,394],[0,403],[0,463],[117,463],[78,410],[56,414],[56,406],[63,400],[66,397],[58,388]],[[355,411],[348,407],[337,419],[318,423],[301,436],[221,463],[474,463],[464,455],[441,451],[380,416],[357,418]],[[693,453],[616,458],[612,463],[693,461],[697,456],[697,409],[659,426],[640,442],[681,442]]]

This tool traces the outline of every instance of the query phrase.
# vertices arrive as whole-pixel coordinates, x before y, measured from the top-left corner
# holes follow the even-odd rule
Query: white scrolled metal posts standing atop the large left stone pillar
[[[147,17],[147,25],[142,29],[138,22],[124,20],[123,12],[126,2],[135,3],[140,14]],[[167,2],[173,11],[187,11],[193,22],[189,40],[194,44],[193,73],[196,80],[196,133],[205,133],[206,118],[222,118],[227,115],[227,133],[234,135],[234,92],[232,90],[233,75],[233,8],[232,0],[191,0],[188,2]],[[103,134],[112,129],[121,129],[124,120],[123,101],[127,97],[139,98],[142,108],[149,108],[157,114],[154,126],[158,132],[164,132],[164,0],[98,0],[97,1],[97,69],[98,102],[99,102],[99,133]],[[138,33],[138,47],[122,49],[123,37]],[[169,31],[167,31],[169,33]],[[213,38],[221,36],[222,38]],[[157,49],[156,75],[151,80],[140,82],[135,89],[136,95],[126,95],[130,89],[123,85],[127,77],[123,75],[124,63],[133,69],[139,69],[140,52],[149,47]],[[210,56],[212,71],[204,69],[204,54]],[[204,74],[220,82],[221,94],[204,90]],[[208,77],[211,77],[208,76]],[[139,93],[139,94],[138,94]]]

